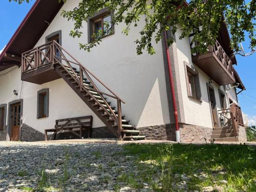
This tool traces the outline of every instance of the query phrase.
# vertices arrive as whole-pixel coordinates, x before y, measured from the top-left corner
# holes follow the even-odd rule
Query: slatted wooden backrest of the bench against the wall
[[[93,117],[89,116],[82,116],[82,117],[73,117],[73,118],[66,118],[66,119],[57,119],[55,121],[55,128],[60,127],[71,127],[71,126],[91,126],[92,127]]]

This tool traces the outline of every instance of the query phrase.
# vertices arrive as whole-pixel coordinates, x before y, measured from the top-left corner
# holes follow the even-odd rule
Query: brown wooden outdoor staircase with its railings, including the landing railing
[[[31,52],[32,54],[28,51],[22,56],[22,75],[35,74],[34,70],[41,70],[50,65],[119,140],[145,139],[135,126],[129,124],[130,120],[122,116],[121,102],[125,102],[56,41],[42,45],[39,49],[35,48]],[[96,81],[109,93],[99,91]],[[108,98],[116,100],[117,108],[108,101]]]

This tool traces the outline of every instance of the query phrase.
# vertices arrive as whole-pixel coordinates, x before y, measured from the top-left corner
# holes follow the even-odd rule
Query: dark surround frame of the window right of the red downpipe
[[[184,61],[184,68],[185,68],[185,80],[186,80],[188,98],[202,102],[202,93],[201,93],[199,72],[193,66],[189,65],[189,63],[187,63],[186,61]],[[189,74],[193,75],[195,95],[193,95],[192,90],[191,90],[191,94],[190,94]]]

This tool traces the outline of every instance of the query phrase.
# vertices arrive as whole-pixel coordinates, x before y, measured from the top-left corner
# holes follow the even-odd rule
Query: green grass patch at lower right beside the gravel
[[[224,191],[256,191],[256,148],[252,146],[129,144],[123,148],[122,155],[137,157],[139,172],[125,173],[118,179],[133,188],[148,183],[156,191],[177,191],[174,184],[183,181],[183,174],[189,190],[218,185]],[[202,174],[205,177],[198,177]]]

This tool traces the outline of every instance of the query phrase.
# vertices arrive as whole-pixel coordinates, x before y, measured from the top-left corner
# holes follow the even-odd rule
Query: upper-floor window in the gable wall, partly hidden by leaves
[[[89,42],[113,34],[114,26],[111,26],[111,20],[111,12],[108,9],[102,9],[91,17],[88,22]]]

